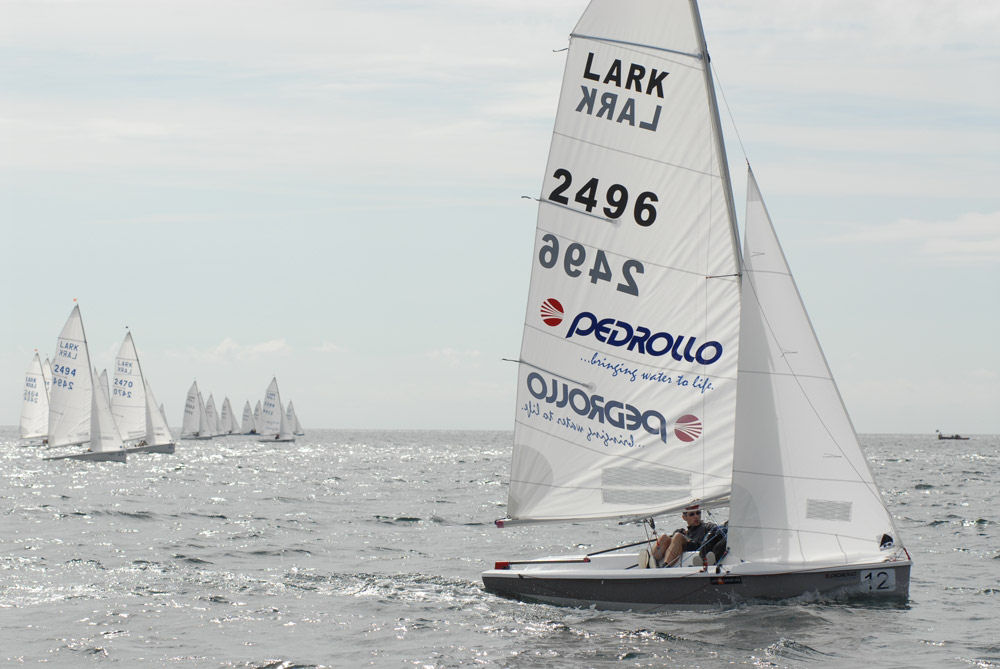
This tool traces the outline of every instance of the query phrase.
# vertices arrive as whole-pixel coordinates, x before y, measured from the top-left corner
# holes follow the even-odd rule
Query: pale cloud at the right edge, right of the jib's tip
[[[891,244],[912,247],[910,257],[939,265],[993,265],[1000,263],[1000,211],[970,212],[950,221],[900,219],[867,226],[832,242]]]

